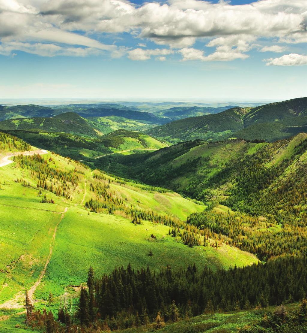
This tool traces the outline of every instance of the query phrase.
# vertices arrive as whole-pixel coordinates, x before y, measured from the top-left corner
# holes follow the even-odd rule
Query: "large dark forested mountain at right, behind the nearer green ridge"
[[[307,98],[297,98],[254,108],[233,108],[214,115],[182,119],[149,129],[146,134],[172,143],[195,139],[218,141],[229,137],[274,141],[303,132],[305,128],[299,127],[306,125],[306,112]],[[282,126],[267,125],[277,122]],[[259,125],[260,123],[263,125]],[[257,126],[250,128],[253,125]],[[257,131],[258,134],[255,135]]]

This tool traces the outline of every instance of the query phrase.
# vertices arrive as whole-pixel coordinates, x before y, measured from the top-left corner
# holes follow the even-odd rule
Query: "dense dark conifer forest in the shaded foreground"
[[[167,267],[158,274],[149,267],[134,271],[129,265],[101,278],[94,278],[90,269],[78,316],[84,325],[100,319],[118,329],[135,326],[136,317],[140,323],[155,321],[158,313],[165,321],[176,321],[204,312],[299,301],[307,292],[306,264],[306,258],[285,257],[230,270]]]

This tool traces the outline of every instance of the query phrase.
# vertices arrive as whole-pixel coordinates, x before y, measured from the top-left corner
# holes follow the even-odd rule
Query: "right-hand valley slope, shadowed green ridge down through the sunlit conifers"
[[[266,259],[303,254],[307,248],[302,229],[307,223],[306,154],[307,134],[301,133],[273,144],[187,142],[146,156],[109,156],[97,163],[122,175],[130,168],[136,179],[164,184],[211,208],[226,206],[188,220]],[[222,214],[217,217],[216,212]]]

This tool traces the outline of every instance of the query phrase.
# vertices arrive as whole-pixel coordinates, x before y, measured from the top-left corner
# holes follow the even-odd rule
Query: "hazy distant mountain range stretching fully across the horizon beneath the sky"
[[[247,141],[285,139],[307,131],[307,98],[255,107],[173,106],[156,103],[154,112],[121,104],[17,105],[0,107],[0,129],[65,132],[87,137],[124,129],[143,132],[170,143],[190,140]],[[148,103],[147,103],[148,105]],[[159,107],[161,107],[161,105]]]

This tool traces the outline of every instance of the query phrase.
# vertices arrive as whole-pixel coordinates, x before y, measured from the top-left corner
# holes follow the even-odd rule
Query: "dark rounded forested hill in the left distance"
[[[88,121],[76,113],[64,113],[51,118],[17,118],[0,122],[1,130],[43,130],[47,132],[65,132],[96,137]]]

